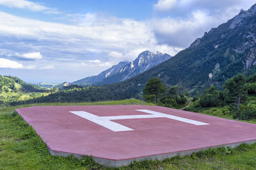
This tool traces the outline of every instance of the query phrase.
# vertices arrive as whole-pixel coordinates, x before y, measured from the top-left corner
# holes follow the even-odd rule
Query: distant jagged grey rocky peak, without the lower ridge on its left
[[[157,54],[154,54],[153,52],[146,50],[141,52],[138,58],[136,58],[134,61],[131,61],[131,63],[120,69],[119,72],[107,77],[106,79],[103,79],[102,81],[98,82],[97,85],[125,81],[149,70],[150,68],[153,68],[154,66],[159,65],[160,63],[163,63],[170,58],[172,58],[172,56],[169,54],[162,54],[158,51]]]

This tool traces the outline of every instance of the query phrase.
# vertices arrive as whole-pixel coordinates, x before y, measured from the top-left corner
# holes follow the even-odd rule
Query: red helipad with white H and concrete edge
[[[16,109],[52,155],[92,155],[106,166],[256,142],[256,125],[147,105]]]

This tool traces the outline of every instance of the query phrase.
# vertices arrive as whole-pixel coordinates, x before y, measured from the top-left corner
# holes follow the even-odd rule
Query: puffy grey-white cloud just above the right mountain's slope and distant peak
[[[166,17],[151,20],[151,27],[159,44],[172,47],[188,47],[196,38],[204,35],[212,26],[221,23],[221,17],[215,18],[205,12],[193,12],[186,19]]]

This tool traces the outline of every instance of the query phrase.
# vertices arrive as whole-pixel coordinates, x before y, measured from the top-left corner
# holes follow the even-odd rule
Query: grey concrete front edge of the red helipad
[[[138,161],[142,161],[142,160],[164,160],[165,158],[172,158],[175,156],[184,157],[186,155],[191,155],[192,153],[196,153],[199,151],[205,151],[209,148],[221,148],[221,147],[228,147],[228,146],[230,146],[230,148],[236,148],[237,146],[239,146],[240,144],[243,144],[243,143],[253,144],[253,143],[256,143],[256,140],[242,141],[239,143],[230,143],[230,144],[223,144],[223,145],[218,145],[218,146],[210,146],[207,148],[199,148],[199,149],[195,149],[195,150],[177,151],[177,152],[173,152],[173,153],[152,155],[152,156],[140,157],[140,158],[129,158],[129,159],[124,159],[124,160],[112,160],[112,159],[98,158],[98,157],[93,157],[93,160],[95,162],[97,162],[98,164],[108,166],[108,167],[122,167],[122,166],[127,166],[134,161],[138,162]],[[78,155],[78,154],[74,154],[74,153],[65,153],[65,152],[61,152],[61,151],[54,151],[54,150],[51,150],[51,148],[49,148],[49,147],[48,147],[48,150],[51,153],[51,155],[54,155],[54,156],[59,155],[61,157],[67,157],[68,155],[73,155],[76,158],[82,158],[84,156],[84,155]],[[90,156],[90,155],[88,155],[88,156]]]

